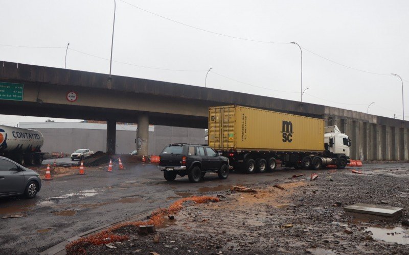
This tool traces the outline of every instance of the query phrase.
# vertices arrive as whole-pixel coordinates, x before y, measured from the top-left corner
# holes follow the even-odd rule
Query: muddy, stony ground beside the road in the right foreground
[[[321,170],[315,181],[301,176],[247,185],[257,193],[223,194],[217,203],[190,205],[158,226],[155,234],[139,236],[135,227],[117,234],[129,240],[90,246],[87,254],[407,254],[409,170],[389,167],[363,170]],[[274,185],[280,184],[285,190]],[[404,208],[396,219],[350,215],[344,207],[372,203]]]

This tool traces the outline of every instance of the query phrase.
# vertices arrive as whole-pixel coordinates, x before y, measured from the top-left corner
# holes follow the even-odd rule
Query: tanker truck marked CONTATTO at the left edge
[[[40,165],[44,137],[36,130],[0,125],[0,156],[21,165]]]

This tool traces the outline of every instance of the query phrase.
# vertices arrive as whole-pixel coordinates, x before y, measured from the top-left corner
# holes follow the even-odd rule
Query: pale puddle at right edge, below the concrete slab
[[[405,230],[402,227],[392,229],[368,227],[365,231],[371,231],[374,239],[389,243],[409,244],[409,230]]]

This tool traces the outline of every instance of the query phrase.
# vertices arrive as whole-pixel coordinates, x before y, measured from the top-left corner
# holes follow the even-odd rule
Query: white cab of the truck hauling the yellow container
[[[349,157],[351,139],[340,132],[336,125],[324,127],[324,132],[325,149],[333,155],[345,154],[345,156]]]

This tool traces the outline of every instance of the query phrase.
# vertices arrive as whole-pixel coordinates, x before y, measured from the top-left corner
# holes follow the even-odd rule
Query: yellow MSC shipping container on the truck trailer
[[[324,120],[242,106],[210,107],[209,145],[222,150],[322,151]]]

